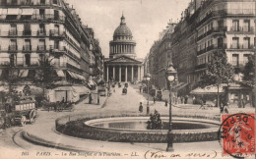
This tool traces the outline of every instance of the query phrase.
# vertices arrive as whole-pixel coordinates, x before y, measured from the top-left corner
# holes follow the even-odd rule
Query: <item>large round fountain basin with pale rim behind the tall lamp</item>
[[[149,117],[114,117],[68,122],[59,127],[58,132],[68,135],[117,142],[151,142],[167,141],[168,118],[161,117],[163,130],[147,130]],[[194,142],[218,140],[219,121],[193,118],[172,118],[173,141]]]

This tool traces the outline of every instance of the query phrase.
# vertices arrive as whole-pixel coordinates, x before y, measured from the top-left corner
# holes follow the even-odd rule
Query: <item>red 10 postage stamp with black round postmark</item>
[[[255,114],[224,114],[220,128],[223,153],[242,157],[255,153]]]

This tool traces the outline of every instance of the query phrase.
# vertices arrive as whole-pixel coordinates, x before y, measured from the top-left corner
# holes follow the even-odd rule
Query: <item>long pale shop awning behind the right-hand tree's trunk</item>
[[[217,94],[218,93],[218,87],[214,85],[209,85],[204,88],[197,87],[194,90],[190,91],[191,94]],[[223,86],[219,86],[219,93],[224,93]]]

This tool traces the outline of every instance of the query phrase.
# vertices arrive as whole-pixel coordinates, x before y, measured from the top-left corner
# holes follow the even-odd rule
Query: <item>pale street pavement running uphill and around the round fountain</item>
[[[73,112],[47,112],[38,110],[38,120],[33,125],[27,125],[25,127],[12,127],[10,129],[1,132],[1,152],[8,152],[8,149],[16,149],[16,152],[22,153],[23,151],[50,151],[56,153],[58,156],[60,153],[65,152],[68,147],[79,148],[85,151],[103,151],[103,152],[115,152],[119,146],[122,149],[118,149],[118,152],[136,152],[142,154],[148,149],[159,149],[161,151],[165,150],[165,143],[115,143],[107,141],[95,141],[87,139],[78,139],[71,136],[66,136],[59,134],[54,131],[55,120],[61,116],[74,116],[77,114],[84,114],[85,116],[92,114],[140,114],[139,113],[139,103],[143,102],[144,110],[143,114],[146,114],[147,100],[143,97],[143,94],[139,92],[139,89],[133,88],[135,86],[129,85],[128,93],[122,94],[122,87],[115,88],[115,92],[112,92],[109,97],[100,97],[100,105],[88,104],[88,99],[82,101],[75,106]],[[105,103],[103,104],[103,102]],[[186,116],[205,116],[214,117],[220,116],[218,108],[209,108],[205,110],[199,109],[200,106],[189,106],[189,105],[178,105],[173,107],[174,115],[186,115]],[[150,101],[150,110],[158,110],[160,115],[168,115],[168,107],[164,106],[164,102],[157,101],[156,104]],[[247,111],[250,111],[246,109]],[[241,111],[239,109],[230,109],[231,112]],[[28,132],[31,136],[36,136],[38,139],[43,139],[43,141],[50,142],[50,144],[55,144],[54,147],[45,147],[42,145],[34,144],[26,140],[22,136],[22,131]],[[74,142],[75,141],[75,142]],[[75,145],[74,145],[75,143]],[[201,151],[205,150],[205,145],[207,144],[209,151],[213,149],[219,149],[221,153],[221,147],[218,141],[208,141],[208,142],[197,142],[197,143],[174,143],[175,152],[182,152],[182,147],[185,146],[189,151]],[[79,146],[78,146],[79,145]],[[90,145],[90,146],[88,146]],[[66,150],[65,150],[66,149]],[[200,150],[201,149],[201,150]],[[119,151],[121,150],[121,151]]]

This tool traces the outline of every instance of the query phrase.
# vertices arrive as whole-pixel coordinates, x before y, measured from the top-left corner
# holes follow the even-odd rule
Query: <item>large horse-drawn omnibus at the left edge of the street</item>
[[[0,127],[33,124],[36,118],[37,110],[33,96],[7,96],[1,107]]]

